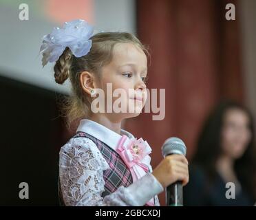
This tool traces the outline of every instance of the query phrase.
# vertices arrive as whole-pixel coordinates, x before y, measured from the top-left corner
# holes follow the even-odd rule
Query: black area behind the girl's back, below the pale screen
[[[0,206],[57,206],[58,151],[62,135],[54,91],[0,77]],[[19,199],[19,184],[29,185],[29,199]]]

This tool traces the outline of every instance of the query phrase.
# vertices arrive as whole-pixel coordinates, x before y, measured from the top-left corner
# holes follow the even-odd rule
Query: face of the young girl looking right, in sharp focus
[[[145,53],[138,46],[131,43],[117,43],[114,45],[112,61],[103,67],[99,86],[105,91],[105,98],[113,95],[107,93],[107,83],[111,83],[113,91],[122,89],[125,96],[112,97],[111,104],[114,107],[114,102],[122,98],[121,103],[126,103],[127,113],[113,113],[112,117],[115,115],[116,118],[122,120],[140,114],[147,99],[146,77],[147,56]],[[105,106],[107,104],[109,103],[105,100]]]

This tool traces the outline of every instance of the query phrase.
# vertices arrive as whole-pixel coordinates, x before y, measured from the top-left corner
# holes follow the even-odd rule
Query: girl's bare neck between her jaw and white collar
[[[102,124],[103,126],[118,134],[121,133],[121,121],[113,120],[110,117],[107,117],[105,114],[92,114],[88,119],[97,122],[98,124]]]

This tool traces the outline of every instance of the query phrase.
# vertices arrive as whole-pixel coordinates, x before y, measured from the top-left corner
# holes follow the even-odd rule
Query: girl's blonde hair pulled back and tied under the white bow
[[[133,43],[149,57],[145,45],[128,32],[101,32],[92,36],[91,40],[92,47],[88,54],[77,58],[66,47],[54,65],[56,83],[63,84],[70,78],[72,84],[72,94],[62,104],[62,113],[67,118],[69,129],[72,122],[85,118],[90,112],[91,97],[83,91],[79,80],[82,72],[87,71],[100,77],[101,68],[112,60],[116,43]]]

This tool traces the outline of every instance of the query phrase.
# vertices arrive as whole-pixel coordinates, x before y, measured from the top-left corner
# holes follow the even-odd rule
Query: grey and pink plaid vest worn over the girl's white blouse
[[[102,197],[105,197],[106,195],[115,192],[120,186],[128,187],[133,183],[129,168],[127,168],[125,162],[122,161],[122,158],[120,157],[120,155],[118,155],[118,153],[116,153],[116,151],[114,151],[111,147],[107,146],[107,144],[105,144],[104,142],[101,142],[92,135],[89,135],[82,131],[78,131],[76,135],[74,135],[72,138],[77,137],[86,137],[92,140],[92,142],[94,142],[94,144],[96,144],[96,146],[98,147],[100,153],[102,153],[107,164],[109,164],[110,168],[103,171],[105,191],[101,195]],[[60,206],[65,206],[59,181],[58,197],[60,201]],[[147,206],[147,204],[145,206]]]

